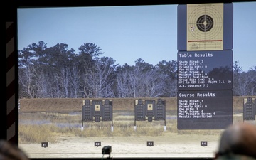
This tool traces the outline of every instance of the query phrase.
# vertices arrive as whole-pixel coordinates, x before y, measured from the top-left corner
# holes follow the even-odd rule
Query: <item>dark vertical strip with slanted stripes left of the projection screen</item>
[[[14,1],[4,3],[1,14],[1,139],[17,143],[16,110],[16,5]],[[3,10],[2,10],[3,11]]]

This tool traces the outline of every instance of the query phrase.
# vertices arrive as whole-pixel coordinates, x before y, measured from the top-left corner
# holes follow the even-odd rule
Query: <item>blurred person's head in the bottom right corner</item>
[[[216,159],[256,159],[256,126],[233,124],[220,137]]]

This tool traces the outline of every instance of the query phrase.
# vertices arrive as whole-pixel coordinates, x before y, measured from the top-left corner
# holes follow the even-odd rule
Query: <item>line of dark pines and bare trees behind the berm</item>
[[[121,66],[103,54],[94,43],[78,53],[65,43],[31,43],[18,50],[19,98],[176,97],[176,60]],[[233,79],[233,95],[256,95],[256,67],[245,72],[235,62]]]

